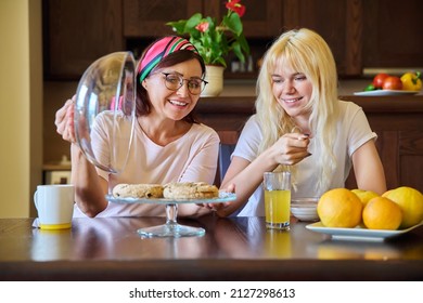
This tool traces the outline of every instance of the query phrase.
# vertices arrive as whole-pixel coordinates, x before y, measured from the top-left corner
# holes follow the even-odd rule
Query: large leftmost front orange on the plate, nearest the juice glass
[[[346,188],[324,193],[318,202],[318,214],[326,227],[356,227],[361,222],[362,202]]]

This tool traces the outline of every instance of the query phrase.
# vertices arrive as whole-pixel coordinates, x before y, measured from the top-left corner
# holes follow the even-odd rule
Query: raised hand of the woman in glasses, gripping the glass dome
[[[54,124],[56,127],[56,132],[62,135],[62,139],[70,143],[76,142],[75,128],[74,128],[74,105],[76,101],[76,95],[67,100],[55,113]]]

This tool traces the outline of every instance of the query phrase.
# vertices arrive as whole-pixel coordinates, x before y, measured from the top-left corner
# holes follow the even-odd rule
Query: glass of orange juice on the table
[[[291,190],[265,190],[266,225],[270,228],[290,226]]]

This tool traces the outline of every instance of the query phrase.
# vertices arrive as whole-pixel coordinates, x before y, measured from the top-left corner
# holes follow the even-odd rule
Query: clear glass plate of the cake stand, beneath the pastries
[[[219,197],[209,199],[155,199],[155,198],[116,198],[105,196],[106,200],[115,203],[148,203],[148,205],[184,205],[184,203],[223,203],[234,201],[235,194],[219,192]]]

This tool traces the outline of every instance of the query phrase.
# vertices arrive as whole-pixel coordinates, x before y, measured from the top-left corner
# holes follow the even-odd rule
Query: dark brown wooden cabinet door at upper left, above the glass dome
[[[44,79],[79,79],[99,57],[124,50],[123,0],[43,0]]]

